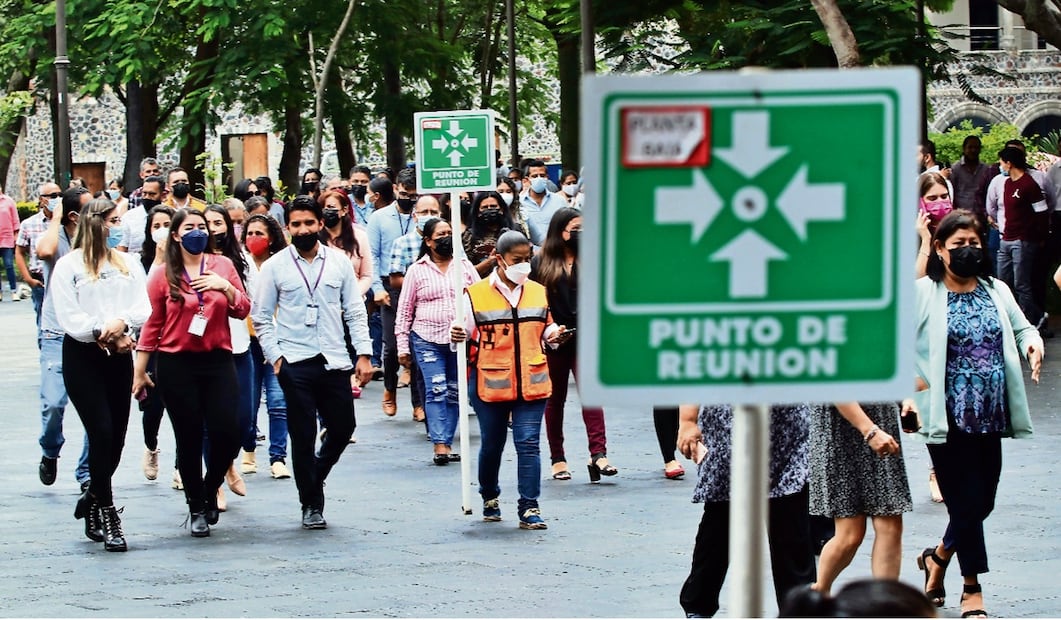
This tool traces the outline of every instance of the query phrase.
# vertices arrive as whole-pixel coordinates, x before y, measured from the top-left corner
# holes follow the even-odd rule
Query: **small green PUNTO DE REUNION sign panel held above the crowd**
[[[417,113],[413,123],[419,192],[497,188],[492,111]]]

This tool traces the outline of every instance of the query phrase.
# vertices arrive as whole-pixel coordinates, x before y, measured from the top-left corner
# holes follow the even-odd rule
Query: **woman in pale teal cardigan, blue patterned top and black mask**
[[[927,275],[917,281],[917,394],[921,437],[950,522],[918,556],[925,593],[942,606],[943,575],[958,554],[961,617],[987,617],[978,575],[988,571],[984,520],[994,507],[1002,437],[1031,435],[1021,355],[1039,381],[1043,341],[1013,294],[990,277],[979,220],[952,211],[936,229]]]

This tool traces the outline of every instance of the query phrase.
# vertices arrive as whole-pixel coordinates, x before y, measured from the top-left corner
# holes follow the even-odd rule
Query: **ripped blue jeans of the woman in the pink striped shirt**
[[[423,394],[428,435],[433,444],[453,444],[460,410],[457,399],[457,354],[448,344],[428,342],[410,332],[408,342],[419,366],[417,380]]]

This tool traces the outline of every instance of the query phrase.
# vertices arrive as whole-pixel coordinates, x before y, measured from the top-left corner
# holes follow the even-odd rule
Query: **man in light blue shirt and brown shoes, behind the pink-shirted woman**
[[[387,268],[395,241],[414,231],[413,205],[416,203],[416,173],[404,169],[398,174],[396,186],[386,178],[373,178],[368,190],[373,203],[386,205],[368,218],[368,244],[372,247],[372,294],[380,306],[383,324],[383,413],[398,413],[398,347],[395,342],[395,311],[401,288],[390,286]],[[398,197],[395,199],[397,192]],[[415,406],[420,404],[414,402]]]

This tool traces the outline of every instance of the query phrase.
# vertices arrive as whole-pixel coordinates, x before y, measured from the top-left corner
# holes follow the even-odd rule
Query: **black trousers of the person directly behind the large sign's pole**
[[[788,590],[815,580],[807,498],[804,485],[799,493],[769,500],[766,534],[779,606]],[[718,592],[729,570],[729,507],[728,501],[703,504],[693,567],[679,598],[686,614],[711,617],[718,612]]]

